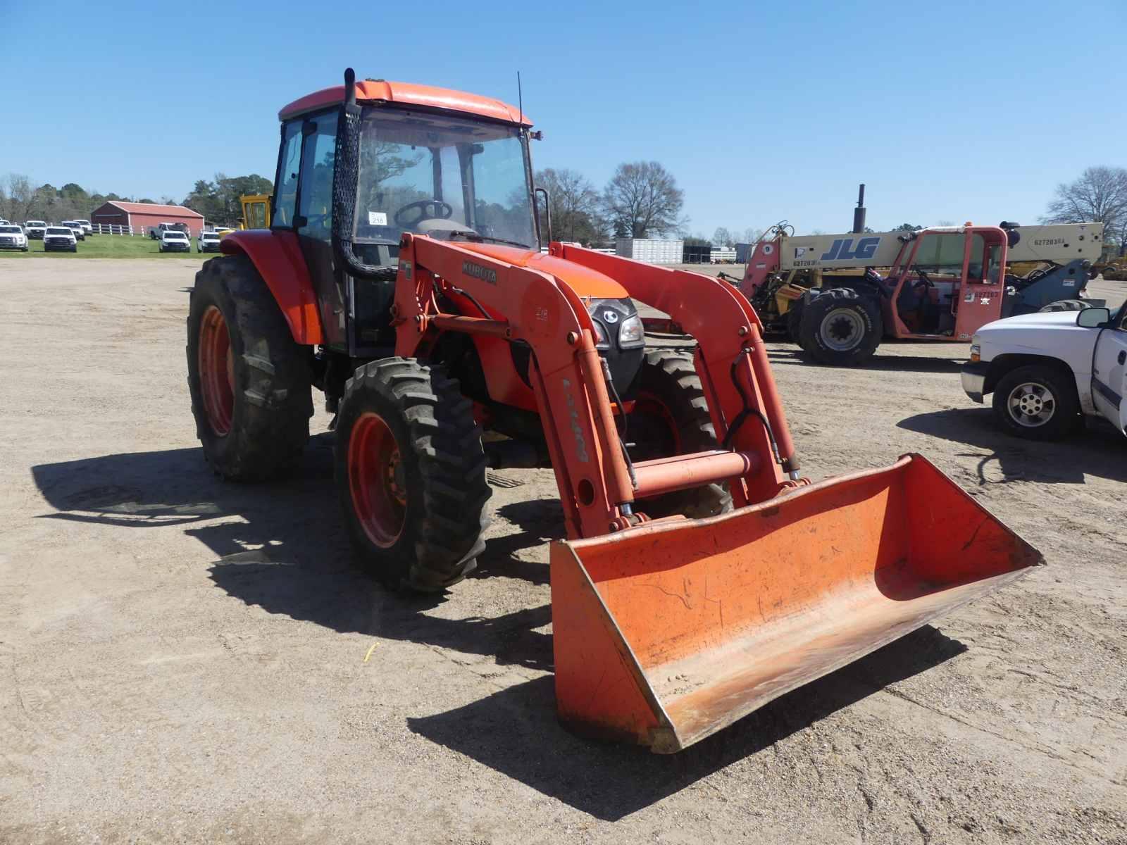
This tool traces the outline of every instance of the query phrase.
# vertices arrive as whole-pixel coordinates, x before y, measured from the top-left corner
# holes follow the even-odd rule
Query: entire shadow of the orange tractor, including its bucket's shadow
[[[446,596],[391,594],[354,564],[332,484],[331,445],[331,435],[312,438],[293,477],[268,484],[216,479],[198,448],[39,464],[32,473],[54,508],[39,518],[139,531],[177,526],[214,555],[208,576],[215,586],[247,605],[341,633],[418,642],[491,657],[502,666],[551,671],[552,638],[543,631],[551,622],[549,604],[442,619],[428,612],[446,603]],[[559,502],[511,501],[497,514],[518,531],[491,537],[471,578],[500,575],[545,584],[545,563],[515,555],[561,536]],[[456,604],[458,588],[451,595],[446,614],[464,606]],[[712,772],[965,650],[925,626],[665,758],[565,731],[554,717],[551,676],[444,713],[409,718],[408,726],[545,795],[615,820],[693,789]]]

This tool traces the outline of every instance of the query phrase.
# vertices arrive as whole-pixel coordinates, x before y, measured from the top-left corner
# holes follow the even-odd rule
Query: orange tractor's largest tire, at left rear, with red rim
[[[196,436],[231,481],[289,472],[313,416],[310,349],[296,344],[246,256],[213,258],[188,309],[188,388]]]

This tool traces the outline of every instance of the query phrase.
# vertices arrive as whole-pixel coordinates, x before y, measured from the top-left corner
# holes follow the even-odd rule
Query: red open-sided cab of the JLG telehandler
[[[894,337],[966,341],[1003,315],[1003,229],[937,226],[900,241],[882,300],[885,326]]]

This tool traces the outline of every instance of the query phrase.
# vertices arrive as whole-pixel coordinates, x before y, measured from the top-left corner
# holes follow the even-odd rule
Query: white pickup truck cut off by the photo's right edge
[[[1063,437],[1082,415],[1127,435],[1127,303],[986,323],[970,341],[962,390],[976,402],[993,393],[994,416],[1019,437]]]

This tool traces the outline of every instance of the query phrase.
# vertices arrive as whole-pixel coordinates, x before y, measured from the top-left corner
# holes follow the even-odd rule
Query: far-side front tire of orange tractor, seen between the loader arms
[[[646,353],[627,425],[636,461],[719,448],[700,376],[692,358],[680,353]],[[731,510],[731,493],[726,484],[704,484],[645,499],[638,509],[651,517],[716,516]]]

